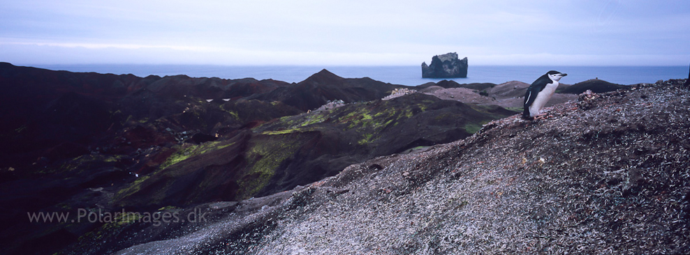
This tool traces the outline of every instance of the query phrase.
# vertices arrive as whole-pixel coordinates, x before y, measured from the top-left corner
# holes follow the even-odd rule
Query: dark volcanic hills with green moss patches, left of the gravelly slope
[[[513,114],[423,94],[381,101],[403,86],[327,70],[287,84],[0,63],[0,86],[3,254],[90,247],[131,222],[41,224],[27,212],[156,212],[266,196],[371,157],[462,139]],[[304,113],[335,99],[348,104]]]

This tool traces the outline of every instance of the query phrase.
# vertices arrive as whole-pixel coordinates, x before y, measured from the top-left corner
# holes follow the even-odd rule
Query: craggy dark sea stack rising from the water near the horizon
[[[457,53],[451,52],[432,57],[431,65],[422,63],[423,78],[464,78],[467,77],[467,57],[457,59]]]

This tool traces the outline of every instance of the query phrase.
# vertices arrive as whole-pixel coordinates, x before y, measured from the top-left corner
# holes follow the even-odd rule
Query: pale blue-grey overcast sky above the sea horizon
[[[0,0],[20,64],[688,65],[690,1]]]

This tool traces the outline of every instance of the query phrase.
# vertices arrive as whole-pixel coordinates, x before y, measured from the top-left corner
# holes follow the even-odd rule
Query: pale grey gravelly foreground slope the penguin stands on
[[[203,223],[126,223],[76,254],[687,254],[690,92],[585,93],[545,121],[210,203]],[[192,208],[177,209],[190,212]],[[121,247],[121,248],[118,248]]]

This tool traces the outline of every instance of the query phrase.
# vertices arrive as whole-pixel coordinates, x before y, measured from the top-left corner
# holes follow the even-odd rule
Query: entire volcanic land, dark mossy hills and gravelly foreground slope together
[[[589,244],[572,238],[616,240],[601,223],[616,219],[621,235],[642,229],[666,246],[612,251],[684,252],[687,172],[673,169],[687,166],[673,160],[687,157],[687,139],[671,137],[687,137],[687,91],[676,85],[582,95],[590,100],[557,105],[548,121],[490,123],[513,112],[423,93],[379,100],[404,86],[327,70],[287,84],[0,63],[0,253],[580,253]],[[433,86],[494,100],[524,84],[420,88]],[[305,112],[329,100],[345,104]],[[98,220],[76,219],[80,210]],[[45,224],[27,212],[71,215]],[[108,212],[139,216],[102,220]],[[597,241],[587,249],[608,249]]]

